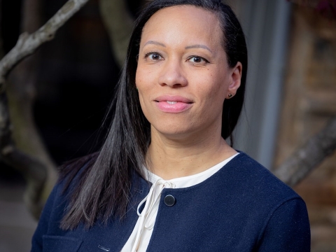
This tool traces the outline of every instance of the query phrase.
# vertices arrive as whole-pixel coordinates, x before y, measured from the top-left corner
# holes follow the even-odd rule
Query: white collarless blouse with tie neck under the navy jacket
[[[159,202],[161,197],[161,192],[164,188],[187,188],[190,186],[195,186],[198,183],[209,179],[212,175],[218,172],[224,165],[226,165],[232,158],[235,158],[239,153],[233,155],[232,157],[220,162],[207,169],[204,172],[200,172],[199,174],[194,174],[192,176],[185,176],[177,179],[170,179],[165,181],[151,172],[148,171],[148,181],[150,181],[153,185],[149,190],[148,195],[142,200],[138,205],[138,221],[134,227],[134,230],[127,240],[125,246],[120,252],[145,252],[149,241],[151,239],[153,228],[155,225],[155,219],[158,215]],[[141,214],[139,213],[139,209],[142,204],[145,204],[144,209]]]

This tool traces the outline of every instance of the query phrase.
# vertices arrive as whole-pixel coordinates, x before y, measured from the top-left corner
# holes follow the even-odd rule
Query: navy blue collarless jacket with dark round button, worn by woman
[[[45,204],[31,251],[120,252],[137,222],[137,204],[150,185],[134,176],[123,223],[99,221],[89,230],[59,229],[68,200],[58,183]],[[169,207],[165,196],[176,202]],[[164,189],[148,252],[310,251],[307,209],[292,189],[241,153],[196,186]]]

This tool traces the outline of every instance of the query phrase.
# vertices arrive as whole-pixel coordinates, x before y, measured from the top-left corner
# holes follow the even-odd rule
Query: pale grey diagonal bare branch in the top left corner
[[[33,34],[23,33],[18,43],[1,59],[0,62],[0,85],[13,67],[22,59],[31,55],[40,45],[54,38],[59,27],[69,20],[88,0],[69,0],[57,13],[48,20],[40,29]],[[0,87],[1,88],[1,87]]]

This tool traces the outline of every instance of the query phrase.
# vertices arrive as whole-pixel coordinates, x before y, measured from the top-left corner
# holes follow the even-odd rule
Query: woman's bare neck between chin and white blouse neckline
[[[175,179],[203,172],[237,153],[218,136],[188,139],[169,139],[152,133],[146,156],[148,169],[162,179]]]

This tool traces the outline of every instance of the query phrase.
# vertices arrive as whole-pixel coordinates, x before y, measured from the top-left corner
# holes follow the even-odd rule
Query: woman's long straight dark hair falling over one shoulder
[[[247,72],[247,49],[244,33],[232,9],[220,0],[155,0],[146,6],[134,24],[123,72],[118,83],[116,98],[109,113],[113,121],[99,153],[64,165],[61,178],[66,187],[80,170],[79,180],[71,190],[70,203],[62,219],[64,230],[76,228],[83,222],[90,227],[97,218],[107,221],[122,218],[130,198],[131,179],[134,172],[143,174],[146,151],[151,141],[150,125],[141,111],[139,95],[135,88],[137,55],[141,33],[151,16],[162,8],[193,5],[218,15],[223,30],[223,48],[228,64],[242,64],[241,85],[235,97],[225,99],[223,104],[222,137],[230,139],[237,125],[244,102]],[[85,169],[80,169],[85,165]]]

